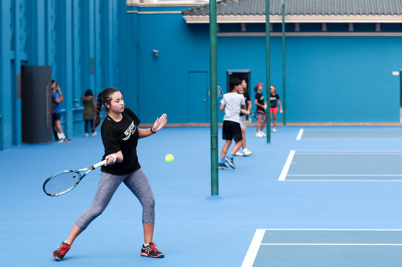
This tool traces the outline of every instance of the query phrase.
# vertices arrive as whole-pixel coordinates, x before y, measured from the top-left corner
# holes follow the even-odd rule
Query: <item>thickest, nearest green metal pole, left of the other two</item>
[[[217,79],[216,0],[209,1],[209,88],[211,90],[211,195],[219,194],[218,186],[218,79]]]

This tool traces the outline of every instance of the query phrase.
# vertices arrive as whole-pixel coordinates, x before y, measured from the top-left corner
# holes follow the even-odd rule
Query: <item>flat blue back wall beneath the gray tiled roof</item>
[[[137,109],[142,121],[152,122],[168,111],[169,122],[203,122],[202,114],[188,119],[187,112],[197,110],[188,99],[204,97],[187,88],[189,71],[209,72],[208,25],[185,24],[181,14],[136,16],[141,29]],[[399,122],[399,76],[392,71],[402,68],[401,41],[399,36],[287,37],[287,122]],[[158,57],[152,49],[160,51]],[[224,90],[228,69],[250,69],[251,88],[265,83],[265,37],[218,37],[218,84]],[[277,36],[271,37],[271,84],[283,97],[282,43]],[[152,109],[150,99],[157,103]],[[219,112],[219,120],[222,117]]]

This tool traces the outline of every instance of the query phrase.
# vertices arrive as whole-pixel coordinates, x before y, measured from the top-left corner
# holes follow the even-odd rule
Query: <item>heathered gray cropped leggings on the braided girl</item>
[[[96,189],[94,202],[76,220],[75,225],[85,230],[86,227],[102,212],[109,204],[113,194],[123,182],[142,205],[142,223],[145,225],[155,224],[155,199],[152,189],[142,168],[124,175],[113,175],[102,172],[98,189]]]

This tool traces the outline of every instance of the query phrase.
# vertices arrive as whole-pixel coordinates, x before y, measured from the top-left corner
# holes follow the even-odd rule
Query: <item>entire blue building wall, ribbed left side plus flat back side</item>
[[[0,0],[0,150],[21,144],[21,65],[52,67],[66,99],[62,123],[69,137],[84,134],[84,91],[110,86],[122,91],[142,123],[165,112],[169,123],[208,122],[208,25],[186,24],[181,14],[127,13],[186,8],[127,7],[124,0]],[[328,24],[328,31],[342,25]],[[374,31],[373,25],[357,24],[356,30]],[[315,26],[303,24],[301,30]],[[382,30],[401,28],[381,24]],[[221,30],[240,31],[240,24]],[[399,76],[392,71],[402,68],[401,38],[287,37],[287,122],[399,122]],[[271,37],[271,84],[283,97],[281,60],[281,37]],[[218,37],[224,91],[228,69],[250,69],[251,89],[265,83],[265,37]]]

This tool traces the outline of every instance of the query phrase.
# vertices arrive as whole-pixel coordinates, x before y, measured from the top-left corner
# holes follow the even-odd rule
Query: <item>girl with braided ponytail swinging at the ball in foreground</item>
[[[164,254],[158,251],[155,243],[152,242],[155,200],[148,178],[137,159],[137,142],[139,138],[156,134],[162,129],[167,121],[167,115],[163,114],[157,118],[154,127],[139,129],[139,119],[131,109],[124,106],[123,97],[118,89],[109,87],[99,92],[97,100],[97,116],[93,128],[100,123],[99,113],[102,103],[108,111],[100,128],[105,147],[102,160],[107,162],[101,168],[98,189],[92,205],[78,217],[68,239],[53,251],[53,258],[59,261],[63,259],[76,237],[88,227],[92,220],[102,214],[121,182],[133,192],[143,207],[142,223],[145,243],[142,245],[141,255],[163,258]]]

